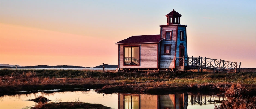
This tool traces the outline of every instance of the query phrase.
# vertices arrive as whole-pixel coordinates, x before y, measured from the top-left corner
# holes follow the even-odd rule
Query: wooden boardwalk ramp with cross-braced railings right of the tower
[[[189,70],[189,69],[212,69],[222,72],[240,72],[241,62],[231,62],[221,59],[211,59],[206,57],[175,57],[175,70]],[[182,61],[182,62],[181,62]]]

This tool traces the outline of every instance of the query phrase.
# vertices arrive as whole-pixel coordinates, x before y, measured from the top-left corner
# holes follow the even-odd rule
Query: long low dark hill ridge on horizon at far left
[[[0,68],[16,68],[15,66],[0,66]],[[36,65],[36,66],[18,66],[18,68],[86,68],[81,66],[72,66],[72,65],[57,65],[57,66],[48,66],[48,65]]]

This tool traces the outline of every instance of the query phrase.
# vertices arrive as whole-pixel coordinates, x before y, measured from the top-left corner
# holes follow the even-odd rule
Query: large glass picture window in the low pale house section
[[[124,65],[139,65],[139,46],[124,47]]]

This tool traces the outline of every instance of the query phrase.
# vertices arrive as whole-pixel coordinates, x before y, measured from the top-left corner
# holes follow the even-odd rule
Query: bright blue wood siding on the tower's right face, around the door
[[[183,31],[183,40],[180,40],[181,37],[181,32]],[[187,60],[188,57],[188,52],[187,52],[187,31],[186,31],[186,27],[182,27],[182,26],[178,26],[178,37],[177,37],[177,51],[176,51],[176,57],[179,57],[179,45],[183,43],[184,45],[184,57],[185,60]],[[187,65],[187,63],[185,63],[185,65]]]

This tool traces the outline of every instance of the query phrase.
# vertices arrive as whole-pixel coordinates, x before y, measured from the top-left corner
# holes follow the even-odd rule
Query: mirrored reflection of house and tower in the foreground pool
[[[187,94],[118,94],[119,109],[187,109]]]

